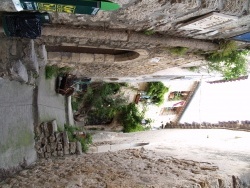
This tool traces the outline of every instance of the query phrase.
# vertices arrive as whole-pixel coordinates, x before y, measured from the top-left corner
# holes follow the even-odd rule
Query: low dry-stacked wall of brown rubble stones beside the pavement
[[[80,142],[70,142],[66,131],[59,132],[55,120],[44,122],[36,128],[35,149],[39,158],[63,157],[82,154]]]

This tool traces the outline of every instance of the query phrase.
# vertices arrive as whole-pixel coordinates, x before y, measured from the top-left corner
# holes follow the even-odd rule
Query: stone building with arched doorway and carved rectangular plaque
[[[158,71],[205,63],[188,52],[173,55],[169,48],[216,50],[212,40],[229,39],[249,26],[249,1],[115,2],[120,10],[99,11],[96,16],[50,13],[52,23],[44,25],[42,36],[34,41],[45,45],[48,63],[74,67],[78,76],[96,80],[153,79]],[[5,1],[1,9],[14,11]]]

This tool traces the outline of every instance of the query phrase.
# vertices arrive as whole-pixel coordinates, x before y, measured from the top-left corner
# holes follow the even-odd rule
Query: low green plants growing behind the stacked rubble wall
[[[92,144],[92,136],[89,133],[86,133],[85,137],[81,137],[76,134],[76,132],[80,131],[78,127],[64,125],[65,131],[68,133],[68,138],[70,142],[79,141],[82,145],[82,151],[87,152],[89,149],[89,144]]]

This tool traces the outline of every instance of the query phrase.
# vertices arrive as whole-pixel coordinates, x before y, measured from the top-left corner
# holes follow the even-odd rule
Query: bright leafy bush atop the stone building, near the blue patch
[[[209,69],[221,72],[226,80],[247,74],[247,50],[237,50],[233,41],[222,42],[220,49],[206,56]]]

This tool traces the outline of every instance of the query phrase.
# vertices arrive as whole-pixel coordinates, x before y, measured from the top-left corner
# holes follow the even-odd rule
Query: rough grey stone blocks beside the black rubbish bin
[[[0,77],[33,85],[39,67],[46,64],[45,46],[0,36],[0,62]]]

